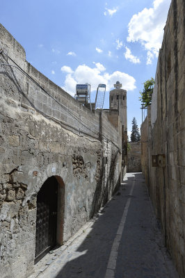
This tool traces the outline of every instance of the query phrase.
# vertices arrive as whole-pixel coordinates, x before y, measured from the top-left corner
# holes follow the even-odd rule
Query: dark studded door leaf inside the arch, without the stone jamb
[[[58,181],[50,177],[43,183],[37,198],[35,263],[56,246]]]

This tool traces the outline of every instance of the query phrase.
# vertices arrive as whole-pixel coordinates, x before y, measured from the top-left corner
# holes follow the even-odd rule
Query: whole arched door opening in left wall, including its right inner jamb
[[[60,176],[49,177],[37,197],[35,263],[56,245],[63,245],[65,185]]]

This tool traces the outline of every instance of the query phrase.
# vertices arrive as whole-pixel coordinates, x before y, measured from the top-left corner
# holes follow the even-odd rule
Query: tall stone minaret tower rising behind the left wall
[[[118,111],[124,131],[127,131],[127,91],[121,89],[122,84],[119,81],[114,84],[114,88],[110,91],[109,108],[111,111]]]

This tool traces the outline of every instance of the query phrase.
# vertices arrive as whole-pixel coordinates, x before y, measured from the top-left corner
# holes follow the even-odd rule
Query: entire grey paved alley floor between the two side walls
[[[108,204],[30,278],[178,278],[143,174],[128,173]]]

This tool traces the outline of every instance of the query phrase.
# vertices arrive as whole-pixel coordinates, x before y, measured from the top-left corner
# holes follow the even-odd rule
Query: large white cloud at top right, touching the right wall
[[[144,8],[133,15],[128,25],[127,41],[140,42],[147,51],[158,56],[170,2],[171,0],[154,0],[153,8]]]

